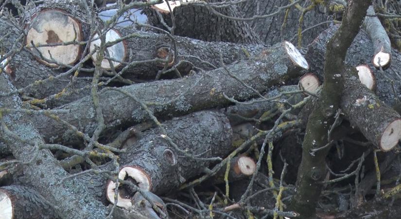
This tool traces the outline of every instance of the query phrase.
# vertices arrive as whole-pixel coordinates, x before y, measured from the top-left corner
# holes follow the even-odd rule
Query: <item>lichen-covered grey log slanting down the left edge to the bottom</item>
[[[0,74],[1,92],[14,91],[14,87],[8,81],[6,75]],[[19,109],[21,101],[18,96],[0,98],[1,108]],[[22,113],[3,114],[3,121],[22,141],[44,144],[37,129],[33,126],[26,115]],[[2,133],[5,142],[16,159],[28,162],[32,159],[34,145],[21,142]],[[87,192],[84,183],[57,183],[68,173],[58,164],[49,150],[39,150],[33,164],[26,165],[23,169],[27,184],[32,185],[40,194],[48,198],[48,201],[55,204],[56,214],[61,218],[93,218],[103,219],[107,216],[105,206],[95,201]]]

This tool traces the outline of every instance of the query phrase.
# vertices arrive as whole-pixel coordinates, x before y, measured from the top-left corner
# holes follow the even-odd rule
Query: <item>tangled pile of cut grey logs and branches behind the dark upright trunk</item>
[[[202,2],[122,1],[119,13],[102,22],[95,9],[106,1],[72,2],[31,2],[18,19],[2,12],[0,218],[298,215],[277,197],[294,195],[289,183],[302,154],[300,133],[319,101],[326,42],[337,25],[302,55],[290,41],[262,45],[246,19],[213,22],[221,13],[253,13],[238,5],[209,10]],[[136,7],[146,7],[154,27],[142,25],[153,32],[116,25]],[[203,16],[184,26],[193,13]],[[367,14],[375,14],[372,6]],[[209,23],[222,31],[199,33]],[[346,64],[339,128],[330,134],[345,147],[365,143],[355,152],[362,165],[361,151],[376,156],[401,139],[401,53],[377,17],[366,17]],[[330,156],[341,153],[336,148]],[[390,156],[396,155],[385,153],[379,162],[390,166]],[[333,166],[351,162],[328,158],[327,182],[342,170]],[[361,167],[345,172],[355,169]],[[375,166],[364,171],[375,173]],[[366,180],[361,194],[374,183]],[[219,191],[224,187],[226,193]],[[216,191],[203,194],[209,207],[194,188]],[[224,201],[213,205],[216,197]],[[190,199],[192,206],[182,203]]]

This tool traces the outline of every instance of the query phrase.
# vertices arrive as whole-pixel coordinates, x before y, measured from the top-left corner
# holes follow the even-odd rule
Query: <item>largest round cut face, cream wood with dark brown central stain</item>
[[[40,57],[40,54],[56,62],[70,65],[76,62],[81,55],[81,46],[76,42],[82,41],[81,23],[61,10],[45,9],[32,16],[25,44],[36,54],[36,58],[50,66],[58,67],[56,63],[49,63]],[[32,42],[36,48],[33,48]],[[47,44],[66,43],[68,45],[40,46]],[[40,52],[40,54],[39,54]]]

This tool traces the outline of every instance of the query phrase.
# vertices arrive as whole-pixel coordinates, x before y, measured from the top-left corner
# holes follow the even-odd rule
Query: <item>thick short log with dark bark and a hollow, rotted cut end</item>
[[[138,186],[155,194],[173,191],[182,183],[215,163],[206,158],[226,157],[233,149],[232,130],[227,117],[219,112],[199,111],[162,124],[166,134],[182,151],[171,146],[159,128],[147,131],[122,154],[119,179],[132,179]],[[246,169],[246,166],[245,166]],[[112,181],[107,183],[107,198],[114,203]],[[120,192],[123,189],[119,189]],[[117,206],[131,207],[132,197],[123,197]]]

